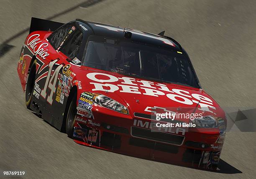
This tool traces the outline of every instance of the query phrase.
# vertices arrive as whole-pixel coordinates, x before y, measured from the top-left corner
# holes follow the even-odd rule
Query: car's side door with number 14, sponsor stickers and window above
[[[82,43],[82,32],[74,24],[69,24],[59,31],[49,39],[57,52],[57,58],[51,59],[49,62],[49,72],[44,84],[46,90],[41,93],[43,97],[46,97],[43,118],[58,129],[62,124],[75,75],[69,62],[76,59]]]

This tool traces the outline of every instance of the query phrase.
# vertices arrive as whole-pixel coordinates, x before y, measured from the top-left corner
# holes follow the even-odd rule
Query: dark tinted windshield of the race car
[[[89,41],[84,66],[198,87],[185,55],[131,41]]]

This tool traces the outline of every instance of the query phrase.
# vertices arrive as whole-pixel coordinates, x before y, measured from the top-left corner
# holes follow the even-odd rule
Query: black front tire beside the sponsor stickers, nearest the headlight
[[[74,133],[75,117],[77,114],[77,96],[73,95],[67,106],[66,133],[72,138]]]

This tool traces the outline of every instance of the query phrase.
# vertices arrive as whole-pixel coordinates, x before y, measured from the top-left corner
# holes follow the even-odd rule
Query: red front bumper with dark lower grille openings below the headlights
[[[77,115],[74,142],[133,157],[200,169],[218,169],[225,134],[217,129],[151,132],[148,123],[95,114],[94,119]],[[82,120],[81,120],[82,119]],[[145,119],[145,122],[148,122]],[[83,130],[83,132],[81,132]],[[80,133],[79,133],[80,131]]]

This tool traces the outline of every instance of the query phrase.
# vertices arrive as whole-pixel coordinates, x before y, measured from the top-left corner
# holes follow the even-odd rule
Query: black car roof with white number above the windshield
[[[124,32],[128,31],[132,33],[131,41],[141,42],[148,45],[164,47],[170,50],[177,50],[179,52],[182,52],[181,45],[171,37],[156,35],[126,27],[102,24],[98,22],[84,21],[80,19],[77,19],[77,21],[87,24],[92,29],[95,35],[120,39],[124,38]]]

